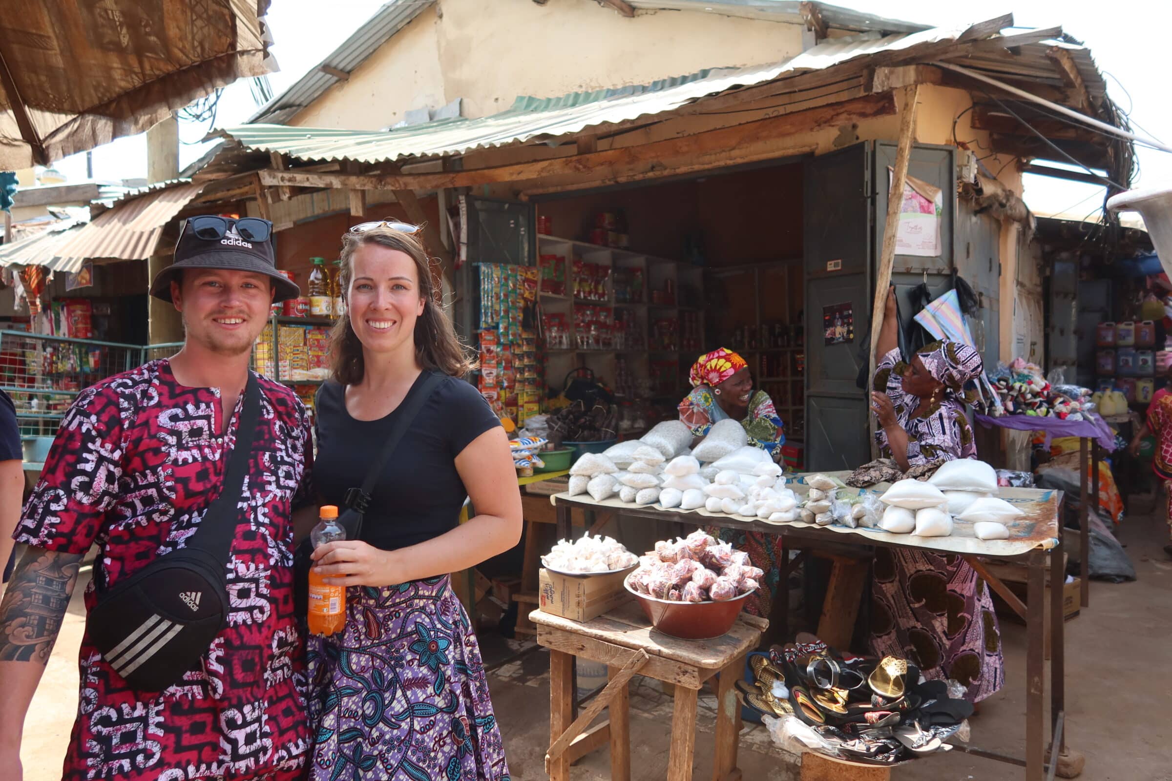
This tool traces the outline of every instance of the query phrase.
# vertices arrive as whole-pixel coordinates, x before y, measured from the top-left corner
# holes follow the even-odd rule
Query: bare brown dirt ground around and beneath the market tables
[[[1163,552],[1168,533],[1157,507],[1154,515],[1129,515],[1118,529],[1136,564],[1134,583],[1091,583],[1091,607],[1067,623],[1068,745],[1086,755],[1089,781],[1172,781],[1164,718],[1152,706],[1172,703],[1172,560]],[[81,589],[33,701],[25,727],[21,756],[26,781],[56,781],[77,705],[77,645],[84,624]],[[1024,755],[1024,628],[1002,624],[1006,686],[982,704],[972,721],[972,744],[1001,753]],[[517,643],[499,636],[483,639],[485,659],[504,659]],[[489,679],[502,725],[512,777],[545,777],[548,745],[548,657],[537,650],[505,664]],[[1047,697],[1049,704],[1049,697]],[[643,678],[632,683],[632,768],[636,779],[662,779],[667,773],[672,698]],[[711,777],[711,733],[715,697],[700,698],[696,779]],[[775,748],[764,727],[745,725],[740,767],[754,781],[798,777],[799,760]],[[582,758],[574,781],[609,777],[605,749]],[[894,781],[1003,781],[1023,777],[1009,765],[960,752],[927,758],[895,768]]]

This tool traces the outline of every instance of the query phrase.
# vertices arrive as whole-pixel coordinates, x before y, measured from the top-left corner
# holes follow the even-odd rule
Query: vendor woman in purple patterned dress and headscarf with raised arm
[[[900,361],[895,293],[887,295],[879,331],[872,409],[883,458],[899,468],[976,458],[965,417],[963,386],[983,371],[981,356],[960,342],[933,342]],[[976,703],[1001,688],[1004,660],[989,588],[956,555],[878,548],[871,608],[871,651],[900,656],[926,678],[953,679]]]

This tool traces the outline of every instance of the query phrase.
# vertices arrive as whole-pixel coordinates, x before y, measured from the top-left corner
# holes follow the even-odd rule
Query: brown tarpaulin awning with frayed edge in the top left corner
[[[142,132],[213,89],[274,69],[268,0],[7,0],[0,169]]]

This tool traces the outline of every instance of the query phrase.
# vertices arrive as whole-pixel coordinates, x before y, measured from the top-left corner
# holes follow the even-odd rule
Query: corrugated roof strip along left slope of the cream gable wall
[[[316,67],[248,117],[248,122],[287,122],[338,83],[338,77],[321,70],[321,66],[352,73],[366,62],[367,57],[377,52],[379,47],[389,41],[395,33],[407,27],[424,9],[434,5],[435,0],[389,0]],[[340,8],[339,12],[345,13],[345,9]]]

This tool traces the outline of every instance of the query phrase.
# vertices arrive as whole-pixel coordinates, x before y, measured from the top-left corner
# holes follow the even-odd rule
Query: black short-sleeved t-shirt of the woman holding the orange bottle
[[[424,375],[420,375],[422,379]],[[346,411],[346,391],[328,382],[318,391],[318,455],[313,481],[327,505],[341,507],[349,488],[359,487],[379,458],[407,399],[390,415],[355,420]],[[468,496],[456,471],[456,457],[473,439],[500,425],[489,403],[469,383],[444,377],[420,407],[387,459],[362,521],[362,540],[383,550],[406,548],[456,527]]]

